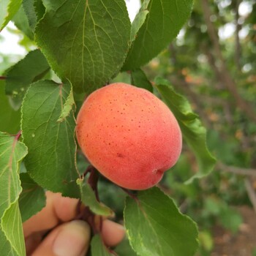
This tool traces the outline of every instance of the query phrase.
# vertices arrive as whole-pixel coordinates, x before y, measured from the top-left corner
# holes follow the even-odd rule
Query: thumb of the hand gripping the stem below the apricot
[[[32,256],[83,256],[89,249],[91,230],[82,220],[74,220],[56,227]]]

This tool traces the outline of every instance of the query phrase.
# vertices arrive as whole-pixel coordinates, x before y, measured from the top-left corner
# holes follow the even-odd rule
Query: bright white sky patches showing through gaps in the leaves
[[[220,3],[224,4],[224,6],[222,7],[225,8],[225,4],[227,5],[230,4],[230,1],[231,0],[224,0],[224,1],[221,1]],[[140,9],[140,0],[126,0],[126,3],[127,3],[127,10],[129,12],[129,18],[132,21],[134,20],[135,15]],[[243,17],[247,15],[249,12],[251,12],[252,10],[249,4],[246,4],[246,2],[242,2],[239,6],[238,11],[239,11],[239,14]],[[0,41],[0,53],[4,53],[6,55],[18,54],[18,55],[25,56],[26,50],[20,45],[18,45],[18,41],[20,40],[20,37],[16,34],[10,33],[10,31],[8,31],[8,28],[15,29],[15,25],[12,22],[10,22],[7,25],[7,27],[5,27],[1,31],[2,40]],[[235,24],[227,23],[225,24],[225,26],[219,29],[219,37],[221,39],[227,39],[233,34],[235,29],[236,29]],[[247,34],[246,28],[241,29],[239,36],[246,37],[246,34]],[[182,37],[182,31],[178,37]]]

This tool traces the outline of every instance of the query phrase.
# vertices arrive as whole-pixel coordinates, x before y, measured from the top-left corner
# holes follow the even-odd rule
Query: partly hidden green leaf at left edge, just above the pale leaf
[[[20,130],[20,110],[15,111],[11,108],[4,93],[4,85],[5,81],[0,80],[0,131],[15,134]]]

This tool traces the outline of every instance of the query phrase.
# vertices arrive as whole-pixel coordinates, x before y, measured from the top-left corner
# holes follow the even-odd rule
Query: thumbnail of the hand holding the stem
[[[78,256],[89,246],[90,227],[82,220],[67,223],[53,243],[56,256]]]

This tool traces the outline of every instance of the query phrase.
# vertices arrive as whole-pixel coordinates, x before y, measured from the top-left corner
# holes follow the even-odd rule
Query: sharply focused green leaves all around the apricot
[[[1,130],[22,131],[22,142],[17,136],[1,133],[0,186],[6,182],[9,186],[3,187],[0,195],[4,202],[0,203],[0,250],[7,255],[25,255],[21,222],[45,206],[45,189],[80,198],[93,216],[113,216],[113,210],[99,202],[95,189],[78,170],[83,165],[77,164],[76,107],[124,70],[130,71],[132,84],[153,92],[141,67],[176,37],[189,18],[192,0],[145,0],[132,23],[124,0],[4,3],[1,29],[12,19],[37,45],[5,72],[0,91],[0,107],[5,109],[1,113],[0,108]],[[214,165],[205,129],[184,97],[162,80],[156,80],[154,87],[195,152],[199,165],[195,177],[205,176]],[[23,158],[26,170],[19,175]],[[31,205],[33,208],[28,207]],[[195,222],[181,214],[160,189],[127,198],[124,221],[130,246],[122,246],[127,255],[195,254]],[[92,238],[91,255],[112,255],[99,235]]]

